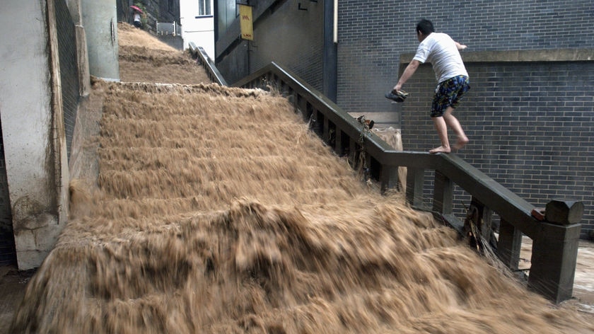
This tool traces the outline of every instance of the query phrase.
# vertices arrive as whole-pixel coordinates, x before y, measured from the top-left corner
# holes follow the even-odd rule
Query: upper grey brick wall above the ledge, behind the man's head
[[[390,111],[383,94],[400,54],[414,53],[420,18],[469,51],[594,48],[591,0],[387,1],[339,4],[337,103],[357,113]]]

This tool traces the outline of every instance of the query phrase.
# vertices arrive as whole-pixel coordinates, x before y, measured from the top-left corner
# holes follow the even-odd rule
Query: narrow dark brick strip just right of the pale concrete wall
[[[76,62],[76,35],[74,22],[65,0],[55,1],[60,80],[62,82],[62,107],[64,110],[64,129],[66,131],[66,150],[68,159],[74,134],[74,122],[78,109],[78,67]]]

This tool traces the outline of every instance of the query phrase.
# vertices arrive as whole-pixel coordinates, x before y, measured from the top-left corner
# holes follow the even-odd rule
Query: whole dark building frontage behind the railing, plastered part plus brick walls
[[[257,2],[250,42],[238,38],[235,1],[215,2],[216,64],[227,81],[274,61],[329,97],[334,87],[332,99],[349,113],[394,112],[383,95],[412,59],[419,19],[433,21],[468,45],[472,89],[456,115],[471,142],[458,154],[535,207],[582,201],[581,237],[593,236],[591,0],[247,2]],[[430,64],[404,86],[411,95],[397,112],[408,151],[438,145],[429,117],[435,86]],[[455,193],[455,202],[466,199]]]

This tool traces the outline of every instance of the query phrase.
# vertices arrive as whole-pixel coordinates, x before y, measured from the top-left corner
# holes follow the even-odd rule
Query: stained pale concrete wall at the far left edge
[[[48,24],[53,4],[3,5],[0,117],[18,267],[25,270],[40,265],[66,221],[66,140],[55,24]]]

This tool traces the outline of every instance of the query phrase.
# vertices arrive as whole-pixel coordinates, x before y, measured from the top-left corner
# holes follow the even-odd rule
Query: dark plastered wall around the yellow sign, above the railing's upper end
[[[299,10],[300,3],[307,11]],[[220,50],[221,42],[217,43],[216,66],[226,81],[233,84],[276,62],[322,91],[322,1],[262,1],[255,3],[252,11],[254,15],[262,13],[255,17],[253,41],[235,40],[224,45],[224,50]],[[226,34],[239,36],[238,24],[230,25]],[[221,40],[225,38],[221,36]]]

